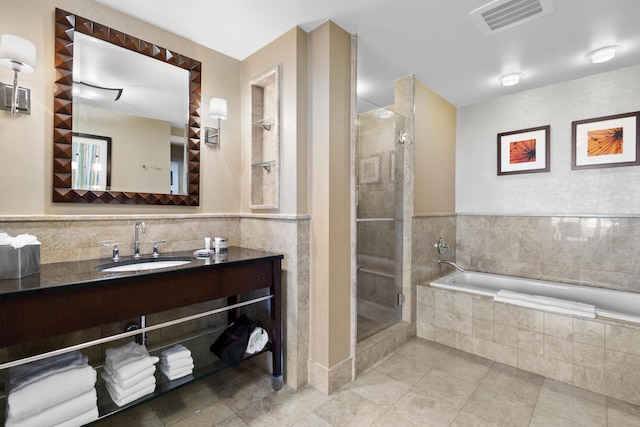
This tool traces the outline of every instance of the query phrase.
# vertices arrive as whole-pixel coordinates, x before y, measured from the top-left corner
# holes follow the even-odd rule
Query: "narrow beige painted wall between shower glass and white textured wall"
[[[455,150],[455,106],[416,80],[416,214],[455,212]]]

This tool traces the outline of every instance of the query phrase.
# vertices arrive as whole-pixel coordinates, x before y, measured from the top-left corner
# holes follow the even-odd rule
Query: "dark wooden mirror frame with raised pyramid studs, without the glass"
[[[73,40],[75,31],[189,71],[188,194],[75,190],[71,186],[73,136]],[[53,97],[53,201],[198,206],[200,190],[199,61],[56,8]]]

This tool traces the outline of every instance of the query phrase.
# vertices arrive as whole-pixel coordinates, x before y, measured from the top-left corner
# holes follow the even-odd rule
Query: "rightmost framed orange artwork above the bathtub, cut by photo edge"
[[[571,122],[571,169],[640,165],[640,111]]]

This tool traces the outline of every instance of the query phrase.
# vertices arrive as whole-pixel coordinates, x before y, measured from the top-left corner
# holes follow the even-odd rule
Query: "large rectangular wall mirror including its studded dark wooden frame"
[[[53,200],[197,206],[200,62],[61,9],[55,20]],[[78,134],[109,139],[106,188],[74,184],[101,179],[78,171]]]

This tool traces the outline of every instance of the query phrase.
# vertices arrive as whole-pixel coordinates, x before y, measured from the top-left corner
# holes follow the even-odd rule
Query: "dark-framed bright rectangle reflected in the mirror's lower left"
[[[74,132],[71,152],[71,188],[108,190],[111,186],[111,138]]]

